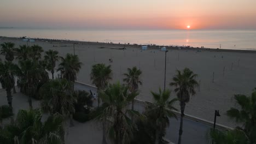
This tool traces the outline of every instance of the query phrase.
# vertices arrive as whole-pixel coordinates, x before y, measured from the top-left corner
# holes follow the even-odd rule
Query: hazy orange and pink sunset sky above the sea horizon
[[[256,29],[256,0],[1,0],[0,27]]]

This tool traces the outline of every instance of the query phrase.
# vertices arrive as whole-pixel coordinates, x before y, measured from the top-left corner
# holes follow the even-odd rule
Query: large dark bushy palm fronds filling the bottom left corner
[[[5,125],[0,131],[1,143],[65,143],[63,118],[58,113],[42,122],[39,109],[19,110],[14,124]]]

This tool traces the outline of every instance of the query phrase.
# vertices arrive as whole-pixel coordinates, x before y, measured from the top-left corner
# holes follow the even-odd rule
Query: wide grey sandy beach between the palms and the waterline
[[[21,39],[1,39],[3,42],[11,41],[15,46],[26,44]],[[44,51],[49,49],[57,50],[60,56],[66,53],[73,53],[73,41],[45,42],[37,40],[36,43],[43,47]],[[54,45],[54,47],[53,47]],[[143,85],[139,87],[138,99],[152,101],[150,91],[158,91],[164,87],[165,52],[157,47],[141,51],[139,46],[126,45],[126,50],[119,50],[123,45],[103,43],[82,43],[75,45],[75,54],[80,58],[83,67],[78,74],[77,80],[91,84],[91,65],[105,63],[112,65],[113,80],[122,81],[123,74],[127,68],[136,66],[142,70]],[[256,53],[253,51],[240,50],[207,50],[207,49],[172,49],[167,47],[166,56],[166,88],[169,86],[176,70],[185,67],[190,68],[198,75],[197,80],[200,87],[196,89],[196,95],[191,98],[185,108],[185,113],[213,121],[214,110],[219,110],[221,117],[217,123],[228,127],[235,127],[236,124],[225,116],[225,112],[231,106],[235,106],[232,97],[234,94],[249,95],[256,87]],[[1,56],[3,59],[3,56]],[[109,63],[109,58],[113,63]],[[225,69],[225,70],[224,70]],[[224,73],[223,73],[224,70]],[[214,73],[214,80],[213,80]],[[176,94],[172,92],[172,97]],[[176,103],[179,109],[179,104]]]

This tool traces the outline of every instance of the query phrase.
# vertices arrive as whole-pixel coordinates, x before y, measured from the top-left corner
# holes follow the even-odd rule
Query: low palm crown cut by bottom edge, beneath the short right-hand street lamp
[[[249,144],[249,139],[245,132],[239,129],[221,131],[211,129],[208,133],[209,143],[214,144]]]

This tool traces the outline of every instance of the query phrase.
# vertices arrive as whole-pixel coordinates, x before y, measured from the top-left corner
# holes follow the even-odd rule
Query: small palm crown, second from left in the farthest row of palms
[[[19,49],[16,49],[17,51],[17,57],[16,59],[19,59],[20,61],[26,61],[31,56],[31,47],[26,45],[20,45]]]

